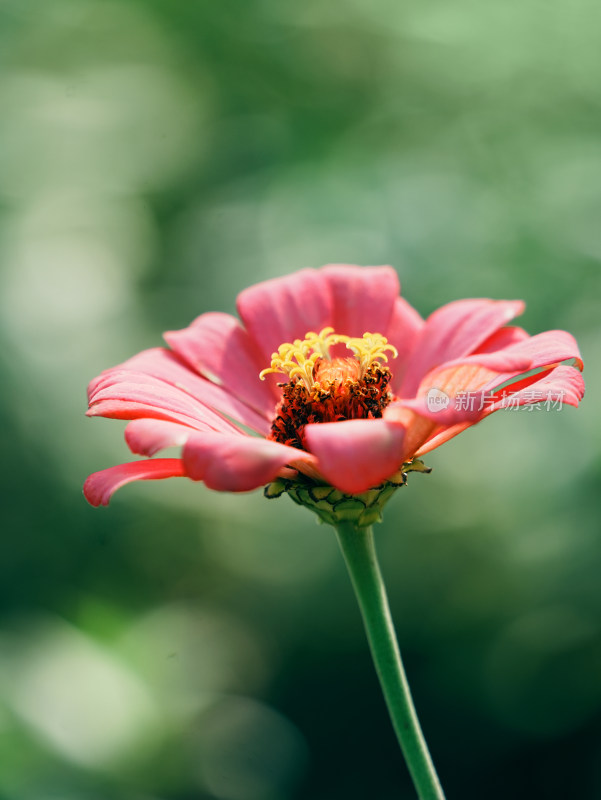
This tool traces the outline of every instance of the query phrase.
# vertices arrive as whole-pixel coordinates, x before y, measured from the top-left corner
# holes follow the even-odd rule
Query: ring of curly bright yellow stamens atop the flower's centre
[[[334,328],[323,328],[319,333],[309,331],[304,339],[284,342],[277,352],[271,354],[271,365],[259,373],[261,380],[271,372],[287,374],[290,379],[300,379],[311,391],[315,385],[314,367],[320,358],[330,358],[330,347],[345,344],[361,365],[361,376],[374,361],[388,361],[387,352],[393,358],[398,355],[396,347],[388,344],[385,336],[379,333],[364,333],[362,337],[344,336],[334,333]]]

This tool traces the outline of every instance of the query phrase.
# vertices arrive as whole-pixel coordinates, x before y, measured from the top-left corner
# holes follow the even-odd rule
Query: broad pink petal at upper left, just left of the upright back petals
[[[202,314],[187,328],[168,331],[165,341],[212,383],[271,419],[279,399],[268,383],[259,379],[265,367],[259,353],[235,317],[230,314]]]

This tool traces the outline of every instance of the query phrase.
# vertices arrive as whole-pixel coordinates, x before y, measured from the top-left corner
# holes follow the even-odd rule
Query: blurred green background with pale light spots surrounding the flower
[[[333,533],[128,460],[102,369],[258,280],[524,298],[579,411],[432,453],[377,531],[449,800],[601,798],[601,7],[0,0],[1,800],[413,798]]]

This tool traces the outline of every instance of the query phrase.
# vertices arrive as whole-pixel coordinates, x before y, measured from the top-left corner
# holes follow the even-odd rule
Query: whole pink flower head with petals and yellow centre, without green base
[[[170,349],[91,382],[88,415],[130,420],[133,453],[182,447],[90,475],[92,505],[169,477],[243,492],[302,473],[356,494],[508,401],[576,406],[584,394],[569,333],[507,326],[521,301],[458,300],[424,320],[391,267],[301,270],[251,286],[237,307],[241,322],[203,314],[165,334]]]

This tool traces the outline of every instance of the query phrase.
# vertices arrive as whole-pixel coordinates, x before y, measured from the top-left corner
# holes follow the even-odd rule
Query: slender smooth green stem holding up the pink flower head
[[[403,669],[376,556],[373,530],[371,527],[356,528],[352,523],[339,523],[336,532],[359,602],[388,712],[418,796],[420,800],[444,800]]]

